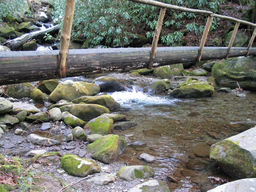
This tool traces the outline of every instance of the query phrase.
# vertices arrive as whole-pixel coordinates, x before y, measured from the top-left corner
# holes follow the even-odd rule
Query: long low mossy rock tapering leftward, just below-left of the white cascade
[[[119,103],[117,103],[110,95],[83,96],[72,101],[72,103],[75,104],[82,102],[86,104],[98,104],[108,108],[109,110],[113,110],[117,107],[120,107]]]

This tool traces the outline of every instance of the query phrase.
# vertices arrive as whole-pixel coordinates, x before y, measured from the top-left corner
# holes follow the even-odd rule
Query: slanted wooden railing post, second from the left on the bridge
[[[148,69],[151,69],[152,66],[153,66],[153,63],[154,63],[154,59],[155,59],[155,55],[156,55],[157,42],[158,42],[159,35],[160,35],[160,32],[161,32],[165,10],[166,10],[166,8],[161,8],[159,18],[158,18],[158,21],[157,21],[157,24],[156,24],[156,30],[155,30],[153,42],[152,42],[152,45],[151,45],[150,60],[148,62],[148,67],[147,67]]]

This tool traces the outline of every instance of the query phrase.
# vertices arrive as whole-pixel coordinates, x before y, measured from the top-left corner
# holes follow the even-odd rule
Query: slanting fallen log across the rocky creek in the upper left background
[[[33,40],[33,39],[39,39],[45,36],[46,33],[52,33],[59,29],[59,25],[55,25],[51,28],[47,28],[40,31],[35,31],[31,33],[26,33],[20,37],[17,37],[15,39],[12,39],[10,41],[5,42],[3,45],[9,47],[11,50],[17,50],[19,49],[23,44]]]

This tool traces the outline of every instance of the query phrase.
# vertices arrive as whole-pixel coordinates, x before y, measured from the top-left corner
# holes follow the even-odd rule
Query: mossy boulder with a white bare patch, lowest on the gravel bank
[[[101,171],[100,165],[96,161],[68,153],[60,158],[60,162],[62,169],[76,177],[85,177]]]

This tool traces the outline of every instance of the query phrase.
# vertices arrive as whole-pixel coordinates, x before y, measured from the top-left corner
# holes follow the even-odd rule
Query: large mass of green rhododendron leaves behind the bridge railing
[[[162,0],[162,2],[218,12],[218,6],[223,0]],[[51,0],[51,3],[54,4],[55,17],[63,16],[65,1]],[[86,37],[91,47],[97,44],[110,46],[111,42],[128,42],[131,38],[138,38],[138,34],[141,33],[146,33],[147,38],[152,38],[159,12],[158,7],[126,0],[77,0],[72,36]],[[195,22],[185,23],[185,20],[193,18]],[[204,25],[197,24],[197,20],[202,18],[206,22],[205,15],[196,16],[194,13],[166,10],[162,43],[175,46],[175,43],[180,43],[185,32],[194,31],[196,35],[199,34],[204,30]],[[218,23],[214,20],[211,30],[217,26]],[[174,32],[170,33],[171,31]]]

